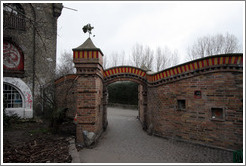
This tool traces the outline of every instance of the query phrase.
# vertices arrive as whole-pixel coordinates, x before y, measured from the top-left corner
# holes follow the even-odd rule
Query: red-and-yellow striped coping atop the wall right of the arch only
[[[194,60],[151,74],[147,76],[147,80],[151,85],[158,85],[163,82],[174,81],[180,78],[182,79],[183,77],[189,76],[189,74],[209,72],[212,70],[238,70],[242,69],[242,67],[243,54],[216,55]]]

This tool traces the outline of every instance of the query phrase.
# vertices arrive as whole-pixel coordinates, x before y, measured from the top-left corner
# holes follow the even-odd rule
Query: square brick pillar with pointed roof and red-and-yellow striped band
[[[83,131],[99,136],[103,129],[103,53],[88,38],[73,49],[77,70],[77,143],[84,144]]]

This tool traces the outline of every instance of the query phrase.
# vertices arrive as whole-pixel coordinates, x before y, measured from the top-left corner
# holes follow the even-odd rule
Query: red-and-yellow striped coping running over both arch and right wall
[[[218,69],[233,69],[233,67],[236,70],[243,67],[242,54],[209,56],[154,74],[148,74],[145,70],[132,66],[119,66],[104,70],[103,77],[105,82],[115,78],[135,78],[136,80],[147,82],[149,85],[158,85],[183,78],[188,73],[194,74],[195,72],[208,72]]]

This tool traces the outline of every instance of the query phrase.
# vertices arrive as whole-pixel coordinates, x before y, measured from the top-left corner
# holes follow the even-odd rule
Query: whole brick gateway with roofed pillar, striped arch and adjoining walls
[[[154,135],[225,149],[243,145],[243,55],[210,56],[158,73],[121,66],[103,69],[103,53],[90,38],[73,49],[77,73],[56,81],[60,107],[77,114],[83,131],[107,127],[107,85],[139,84],[140,121]],[[150,127],[151,126],[151,127]]]

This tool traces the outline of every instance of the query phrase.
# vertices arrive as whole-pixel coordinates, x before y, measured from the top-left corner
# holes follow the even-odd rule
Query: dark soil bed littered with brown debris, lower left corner
[[[49,123],[18,121],[3,130],[4,163],[70,163],[69,139],[75,136],[75,125],[64,122],[58,129]]]

